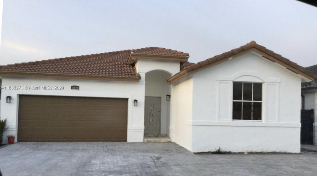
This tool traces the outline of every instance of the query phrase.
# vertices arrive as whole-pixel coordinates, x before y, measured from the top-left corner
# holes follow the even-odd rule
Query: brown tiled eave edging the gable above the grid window
[[[280,54],[277,54],[269,49],[266,49],[264,46],[258,45],[255,41],[251,41],[250,43],[248,43],[246,45],[232,49],[228,52],[224,52],[222,54],[216,55],[212,58],[206,59],[206,60],[198,62],[196,64],[189,65],[189,66],[185,67],[184,70],[171,76],[171,78],[169,78],[167,80],[167,82],[169,82],[171,84],[171,83],[176,82],[177,80],[179,80],[183,77],[186,77],[188,75],[196,73],[200,70],[204,70],[204,69],[212,67],[214,65],[221,64],[221,63],[228,61],[232,58],[236,58],[238,56],[244,55],[244,54],[246,54],[248,52],[252,52],[252,51],[262,55],[264,58],[266,58],[272,62],[275,62],[275,63],[278,63],[278,64],[284,66],[285,68],[287,68],[288,70],[290,70],[296,74],[300,74],[300,75],[306,77],[307,79],[314,80],[317,77],[314,73],[305,69],[304,67],[297,65],[296,63],[290,61],[287,58],[282,57]]]

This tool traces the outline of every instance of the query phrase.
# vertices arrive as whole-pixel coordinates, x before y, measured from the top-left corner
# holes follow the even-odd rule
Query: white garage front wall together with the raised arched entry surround
[[[119,82],[119,81],[97,81],[97,80],[71,80],[71,79],[43,79],[43,78],[13,78],[2,77],[2,86],[64,86],[65,90],[2,90],[1,95],[1,119],[7,118],[7,127],[3,134],[3,143],[7,143],[7,135],[13,134],[17,140],[17,118],[18,118],[18,95],[53,95],[53,96],[80,96],[80,97],[105,97],[105,98],[127,98],[128,99],[128,129],[127,142],[143,142],[144,137],[144,100],[145,96],[157,95],[147,91],[145,95],[145,75],[152,70],[163,70],[164,74],[175,74],[179,71],[179,61],[162,61],[154,59],[139,59],[136,69],[141,76],[139,82]],[[161,71],[162,72],[162,71]],[[151,82],[151,81],[150,81]],[[80,86],[80,90],[70,90],[70,86]],[[169,85],[164,82],[160,92],[162,97],[162,108],[165,107],[165,118],[169,112],[166,108],[166,92]],[[5,97],[11,96],[11,103],[6,103]],[[138,106],[133,106],[133,100],[138,100]],[[165,104],[164,104],[165,103]],[[168,133],[167,120],[161,131]],[[163,124],[163,123],[162,123]]]

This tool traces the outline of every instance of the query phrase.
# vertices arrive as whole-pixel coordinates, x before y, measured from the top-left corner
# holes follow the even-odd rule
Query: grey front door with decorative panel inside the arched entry
[[[161,127],[161,97],[145,97],[144,134],[158,135]]]

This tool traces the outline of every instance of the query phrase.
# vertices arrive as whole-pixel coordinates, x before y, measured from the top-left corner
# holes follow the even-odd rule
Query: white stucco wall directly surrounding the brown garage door
[[[2,78],[3,86],[64,86],[65,90],[2,90],[1,118],[7,118],[9,129],[4,136],[17,136],[18,95],[57,95],[82,97],[128,98],[128,142],[142,142],[144,131],[144,77],[140,82],[112,82],[95,80],[36,79],[36,78]],[[80,86],[80,90],[70,90],[70,86]],[[5,97],[12,96],[12,102],[6,103]],[[138,106],[133,106],[133,100]],[[17,138],[16,138],[17,139]],[[4,137],[4,142],[7,142]]]

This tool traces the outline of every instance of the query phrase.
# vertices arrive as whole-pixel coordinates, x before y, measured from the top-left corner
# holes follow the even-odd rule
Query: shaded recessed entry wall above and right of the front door
[[[161,134],[167,135],[170,125],[170,101],[166,101],[166,95],[171,94],[171,88],[165,80],[169,77],[171,74],[160,70],[150,71],[145,75],[145,96],[161,97]]]

